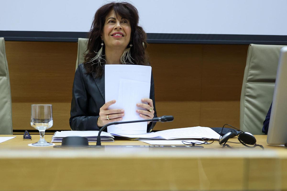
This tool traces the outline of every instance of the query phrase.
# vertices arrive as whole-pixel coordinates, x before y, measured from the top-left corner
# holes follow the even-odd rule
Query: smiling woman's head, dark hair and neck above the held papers
[[[138,23],[137,9],[129,3],[109,3],[100,7],[89,33],[84,62],[87,72],[101,76],[104,64],[149,66],[146,33]]]

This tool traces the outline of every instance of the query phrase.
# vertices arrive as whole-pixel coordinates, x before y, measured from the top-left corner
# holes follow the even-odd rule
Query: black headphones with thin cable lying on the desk
[[[228,124],[225,124],[225,125],[228,125]],[[221,132],[223,131],[223,128],[224,128],[225,125],[223,125]],[[240,131],[240,133],[237,133],[234,129],[230,129],[223,136],[221,134],[220,136],[222,136],[222,137],[219,139],[219,144],[220,145],[226,145],[226,142],[228,141],[228,139],[230,139],[231,137],[238,136],[239,142],[242,143],[244,146],[250,147],[250,148],[259,146],[262,149],[264,149],[264,147],[262,145],[257,145],[256,144],[256,139],[251,133],[243,132],[240,129],[237,129],[237,128],[231,126],[231,125],[228,125],[228,126]],[[249,146],[249,145],[253,145],[253,146]]]

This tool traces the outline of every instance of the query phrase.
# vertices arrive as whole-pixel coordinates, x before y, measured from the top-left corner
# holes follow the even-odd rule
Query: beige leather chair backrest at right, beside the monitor
[[[240,129],[263,134],[263,121],[273,99],[281,45],[250,44],[240,99]]]

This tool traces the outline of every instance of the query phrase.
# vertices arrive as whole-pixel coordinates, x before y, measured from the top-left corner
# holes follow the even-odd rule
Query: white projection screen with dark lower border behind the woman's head
[[[86,38],[95,11],[111,1],[1,0],[5,40]],[[122,1],[117,1],[122,2]],[[286,0],[131,0],[149,43],[287,44]]]

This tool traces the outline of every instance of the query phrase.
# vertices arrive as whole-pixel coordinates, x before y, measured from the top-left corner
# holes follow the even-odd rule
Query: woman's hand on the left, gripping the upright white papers
[[[98,127],[102,127],[111,122],[123,120],[123,116],[125,115],[125,111],[123,109],[108,109],[108,107],[114,103],[116,103],[116,100],[109,101],[100,108],[100,117],[98,117],[97,121]]]

